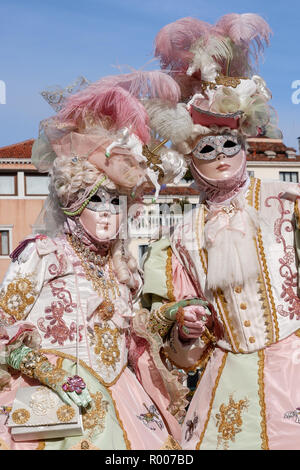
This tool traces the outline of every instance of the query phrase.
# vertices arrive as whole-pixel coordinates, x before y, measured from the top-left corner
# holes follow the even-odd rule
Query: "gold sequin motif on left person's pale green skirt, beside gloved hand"
[[[103,400],[101,392],[91,394],[93,402],[82,413],[82,422],[84,429],[94,429],[97,427],[99,432],[105,428],[105,417],[108,409],[108,402]]]

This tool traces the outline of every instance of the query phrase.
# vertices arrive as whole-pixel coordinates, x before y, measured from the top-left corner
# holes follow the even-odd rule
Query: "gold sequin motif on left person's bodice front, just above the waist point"
[[[103,364],[115,369],[116,363],[120,360],[118,346],[119,330],[117,328],[112,329],[109,326],[101,328],[99,325],[95,325],[94,331],[97,337],[97,344],[94,349],[95,354],[100,355]]]

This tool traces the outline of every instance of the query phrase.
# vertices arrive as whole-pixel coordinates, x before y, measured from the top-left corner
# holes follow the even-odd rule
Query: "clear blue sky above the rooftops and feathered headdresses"
[[[300,104],[292,103],[292,82],[300,81],[296,0],[0,0],[0,81],[6,84],[0,147],[37,136],[39,121],[52,114],[39,94],[43,89],[66,86],[79,75],[94,81],[118,73],[119,66],[153,69],[153,41],[165,24],[184,16],[215,23],[232,12],[258,13],[274,32],[260,74],[273,93],[284,142],[297,147]]]

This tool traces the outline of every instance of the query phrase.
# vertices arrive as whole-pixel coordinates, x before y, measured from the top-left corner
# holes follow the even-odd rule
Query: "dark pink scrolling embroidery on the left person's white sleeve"
[[[76,323],[72,322],[70,327],[67,326],[63,320],[65,313],[73,312],[73,309],[77,307],[77,304],[73,302],[71,292],[65,288],[66,282],[62,279],[54,279],[49,283],[53,297],[60,299],[57,302],[52,302],[49,307],[45,309],[45,318],[38,319],[38,327],[45,333],[44,338],[53,338],[51,343],[58,343],[63,346],[65,341],[74,341],[76,338]],[[49,321],[50,324],[45,326],[45,320]],[[79,341],[82,340],[80,331],[83,329],[83,325],[79,325]]]

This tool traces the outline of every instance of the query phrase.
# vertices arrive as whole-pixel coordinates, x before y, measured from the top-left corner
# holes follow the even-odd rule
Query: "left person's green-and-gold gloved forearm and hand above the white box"
[[[39,351],[20,346],[10,353],[7,364],[52,388],[68,405],[74,402],[78,407],[86,407],[92,401],[81,377],[69,377],[67,371],[55,367]]]

